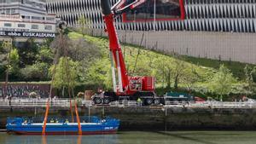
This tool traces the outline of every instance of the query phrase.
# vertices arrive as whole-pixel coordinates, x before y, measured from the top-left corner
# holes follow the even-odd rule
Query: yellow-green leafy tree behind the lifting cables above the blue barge
[[[53,78],[53,86],[56,89],[73,88],[79,84],[77,73],[78,62],[71,60],[69,57],[61,57],[59,63],[55,67],[55,78]],[[50,73],[53,75],[54,66],[51,66]],[[71,96],[71,91],[69,96]]]

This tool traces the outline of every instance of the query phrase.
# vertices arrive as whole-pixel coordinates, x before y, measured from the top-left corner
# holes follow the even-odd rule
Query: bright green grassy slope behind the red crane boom
[[[82,35],[76,32],[71,32],[69,33],[69,37],[81,38]],[[109,72],[110,61],[108,58],[108,39],[104,37],[90,37],[90,36],[84,36],[84,38],[87,41],[90,41],[91,43],[96,43],[96,45],[100,46],[100,48],[102,49],[102,54],[103,54],[102,60],[96,61],[96,65],[100,65],[101,63],[104,63],[104,66],[100,67],[100,69],[101,71],[105,71],[106,73],[109,74],[108,80],[110,81],[111,75]],[[183,56],[182,58],[177,59],[170,55],[162,55],[160,53],[142,49],[142,48],[133,46],[131,44],[123,45],[122,49],[125,55],[125,64],[127,66],[128,72],[130,74],[132,73],[131,75],[143,75],[143,76],[150,75],[150,76],[156,77],[157,79],[162,79],[160,76],[160,72],[155,67],[156,65],[167,65],[168,63],[174,64],[175,62],[180,62],[180,63],[183,62],[186,69],[185,72],[191,72],[190,71],[191,67],[194,67],[196,72],[199,75],[201,75],[201,79],[202,79],[201,82],[198,82],[196,84],[197,86],[200,86],[200,87],[207,87],[208,80],[212,78],[215,72],[217,72],[218,66],[220,64],[218,60],[197,59],[197,58],[192,58],[187,56]],[[140,50],[141,53],[138,57],[136,70],[133,73],[138,50]],[[162,61],[162,63],[160,61]],[[164,62],[164,61],[167,61],[167,62]],[[230,62],[230,61],[224,61],[224,62],[222,61],[221,63],[224,63],[225,66],[228,66],[231,72],[235,73],[236,78],[243,77],[242,71],[245,64],[241,64],[238,62]],[[174,69],[174,66],[175,65],[172,66],[172,69]],[[98,70],[94,72],[98,72]],[[240,85],[240,84],[243,84],[243,82],[238,81],[234,85]],[[157,86],[161,87],[166,85],[163,85],[161,81],[157,81]],[[181,83],[180,86],[186,87],[186,84]]]

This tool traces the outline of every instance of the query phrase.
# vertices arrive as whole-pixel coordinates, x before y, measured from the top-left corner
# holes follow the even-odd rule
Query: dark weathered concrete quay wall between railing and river
[[[86,107],[80,115],[88,115]],[[93,107],[90,115],[111,116],[121,121],[120,130],[256,130],[256,109],[250,108],[183,108],[183,107]],[[7,117],[34,116],[33,108],[0,110],[0,127]],[[68,110],[50,111],[50,115],[70,116]],[[44,116],[44,109],[37,109]]]

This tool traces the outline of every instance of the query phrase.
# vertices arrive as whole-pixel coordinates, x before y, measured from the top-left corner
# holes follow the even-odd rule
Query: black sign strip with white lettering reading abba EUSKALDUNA
[[[0,31],[0,36],[6,37],[55,37],[55,33],[49,32],[8,32]]]

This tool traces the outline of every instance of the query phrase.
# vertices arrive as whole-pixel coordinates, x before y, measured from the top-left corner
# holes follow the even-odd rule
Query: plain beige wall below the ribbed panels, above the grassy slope
[[[106,36],[100,29],[90,32]],[[236,32],[143,32],[118,31],[119,40],[166,54],[177,53],[215,60],[256,64],[256,34]],[[142,38],[143,37],[143,38]]]

